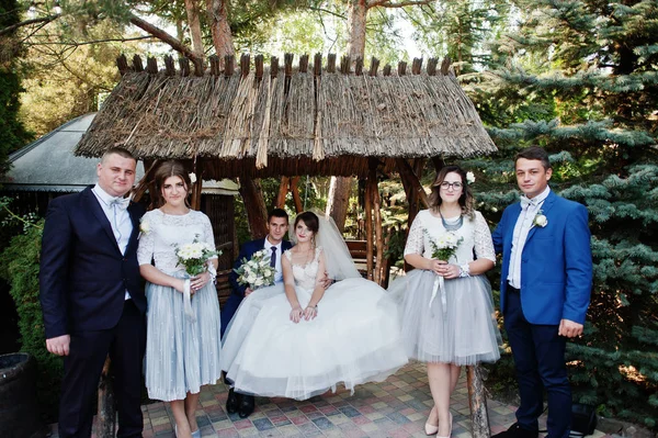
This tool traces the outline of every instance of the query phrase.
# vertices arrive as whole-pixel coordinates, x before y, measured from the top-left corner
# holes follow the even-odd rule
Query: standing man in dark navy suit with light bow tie
[[[110,355],[118,437],[141,437],[146,296],[137,263],[144,209],[124,195],[135,158],[109,149],[98,183],[50,201],[42,240],[39,297],[46,347],[64,356],[59,437],[89,438],[95,392]]]

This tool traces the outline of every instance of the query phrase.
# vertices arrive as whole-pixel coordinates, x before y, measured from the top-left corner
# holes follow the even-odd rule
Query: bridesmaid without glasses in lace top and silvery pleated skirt
[[[146,388],[149,397],[171,403],[178,438],[201,437],[195,418],[198,393],[222,374],[217,258],[207,260],[207,271],[190,279],[175,255],[177,246],[195,239],[215,248],[211,221],[188,205],[190,187],[182,164],[160,165],[149,190],[154,210],[144,215],[137,250],[139,270],[148,281]]]

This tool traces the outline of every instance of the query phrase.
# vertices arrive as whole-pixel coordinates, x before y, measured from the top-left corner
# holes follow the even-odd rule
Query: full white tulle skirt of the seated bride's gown
[[[304,307],[313,291],[297,288]],[[318,316],[290,321],[283,285],[256,291],[228,326],[220,368],[236,391],[306,400],[338,383],[383,381],[407,363],[397,306],[364,279],[331,285]]]

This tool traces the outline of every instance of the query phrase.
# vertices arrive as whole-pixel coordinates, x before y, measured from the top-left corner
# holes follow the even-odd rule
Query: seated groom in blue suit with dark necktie
[[[266,249],[271,254],[270,260],[276,270],[276,273],[274,274],[274,282],[283,281],[281,257],[283,256],[284,251],[293,247],[288,240],[283,239],[287,229],[287,213],[283,209],[274,209],[268,215],[268,235],[262,239],[247,242],[240,247],[240,255],[234,265],[234,270],[228,274],[228,280],[231,285],[231,294],[226,304],[224,304],[222,307],[222,336],[224,336],[226,326],[234,317],[242,300],[253,292],[247,285],[238,283],[238,274],[235,270],[242,266],[242,260],[250,260],[254,252]],[[238,412],[240,417],[246,418],[253,412],[253,407],[254,400],[252,395],[237,394],[234,392],[232,388],[228,391],[226,411],[229,414]]]

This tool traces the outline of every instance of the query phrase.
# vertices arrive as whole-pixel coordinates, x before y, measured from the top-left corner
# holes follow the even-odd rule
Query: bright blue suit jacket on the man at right
[[[542,212],[545,227],[533,226],[521,258],[521,306],[531,324],[583,324],[592,284],[592,255],[587,209],[548,194]],[[494,232],[494,246],[502,252],[500,307],[504,314],[514,225],[521,204],[508,206]]]

